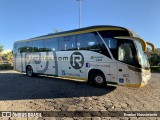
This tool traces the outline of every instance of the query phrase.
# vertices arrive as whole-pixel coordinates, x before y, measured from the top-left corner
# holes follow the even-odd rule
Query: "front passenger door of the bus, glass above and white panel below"
[[[120,43],[118,47],[118,83],[121,85],[130,84],[135,80],[134,71],[128,66],[134,65],[133,45],[126,40]],[[120,62],[119,62],[120,61]],[[134,73],[134,74],[133,74]]]

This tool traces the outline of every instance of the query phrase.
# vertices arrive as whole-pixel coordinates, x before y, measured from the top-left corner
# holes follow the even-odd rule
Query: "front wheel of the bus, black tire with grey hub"
[[[101,72],[92,73],[91,81],[96,87],[104,87],[104,86],[106,86],[105,76]]]

